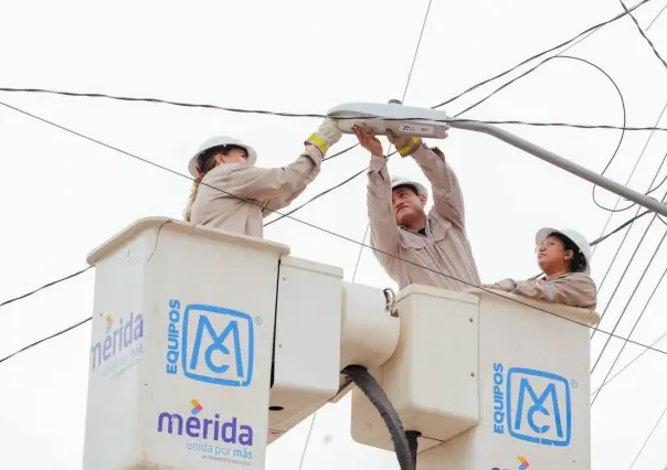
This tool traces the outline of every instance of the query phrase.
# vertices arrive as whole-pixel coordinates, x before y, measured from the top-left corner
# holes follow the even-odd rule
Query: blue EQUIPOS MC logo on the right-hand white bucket
[[[550,372],[494,364],[494,431],[544,446],[572,438],[570,382]],[[502,386],[505,385],[505,387]]]

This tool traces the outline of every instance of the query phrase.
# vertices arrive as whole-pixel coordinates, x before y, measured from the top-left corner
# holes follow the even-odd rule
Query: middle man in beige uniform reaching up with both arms
[[[391,180],[382,143],[372,130],[357,126],[354,135],[372,154],[368,171],[371,246],[387,274],[400,289],[411,284],[449,290],[477,286],[479,274],[466,235],[463,194],[443,152],[419,138],[387,132],[401,157],[411,156],[431,182],[433,207],[426,213],[426,189],[415,181]]]

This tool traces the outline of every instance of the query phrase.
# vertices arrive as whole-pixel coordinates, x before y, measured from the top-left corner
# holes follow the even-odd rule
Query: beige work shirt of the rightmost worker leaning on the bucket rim
[[[595,282],[591,276],[583,273],[569,273],[553,279],[546,277],[536,280],[502,279],[496,284],[529,299],[548,300],[589,310],[595,310],[597,306]]]

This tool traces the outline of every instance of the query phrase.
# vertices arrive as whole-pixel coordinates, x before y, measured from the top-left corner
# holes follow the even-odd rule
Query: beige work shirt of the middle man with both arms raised
[[[449,290],[478,286],[479,274],[466,236],[463,194],[454,171],[437,148],[421,146],[412,158],[432,186],[433,209],[427,214],[426,235],[396,225],[387,161],[372,157],[368,172],[368,217],[375,257],[400,289],[411,284]]]

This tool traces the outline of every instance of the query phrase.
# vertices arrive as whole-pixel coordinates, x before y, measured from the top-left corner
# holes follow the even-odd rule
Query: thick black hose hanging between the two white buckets
[[[399,467],[401,470],[415,470],[411,447],[407,441],[407,436],[403,430],[401,418],[378,381],[375,381],[368,370],[361,365],[348,365],[342,370],[342,373],[354,382],[354,385],[363,392],[380,413],[380,416],[384,420],[389,434],[391,435],[394,452],[396,452],[396,459],[399,459]]]

